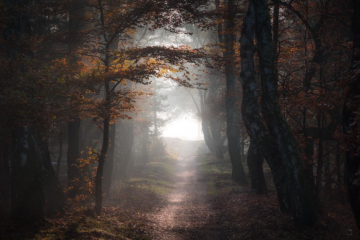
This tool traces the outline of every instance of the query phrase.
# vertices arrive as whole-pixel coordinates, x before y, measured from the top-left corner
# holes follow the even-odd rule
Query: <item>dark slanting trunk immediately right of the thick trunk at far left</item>
[[[45,192],[45,213],[56,214],[64,212],[66,197],[62,186],[55,174],[54,168],[51,165],[50,152],[48,147],[48,140],[43,134],[36,133],[37,142],[39,143],[38,151],[41,157],[44,174],[44,192]]]

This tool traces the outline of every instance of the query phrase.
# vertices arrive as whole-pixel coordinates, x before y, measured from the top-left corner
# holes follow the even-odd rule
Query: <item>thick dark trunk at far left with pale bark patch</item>
[[[11,213],[14,221],[44,221],[45,193],[42,159],[35,130],[13,129]]]

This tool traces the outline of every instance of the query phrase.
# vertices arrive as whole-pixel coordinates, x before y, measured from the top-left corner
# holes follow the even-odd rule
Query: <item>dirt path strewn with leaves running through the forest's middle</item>
[[[193,155],[179,156],[175,190],[168,195],[167,206],[149,216],[156,239],[228,239],[223,214],[214,210],[206,194],[197,160]]]

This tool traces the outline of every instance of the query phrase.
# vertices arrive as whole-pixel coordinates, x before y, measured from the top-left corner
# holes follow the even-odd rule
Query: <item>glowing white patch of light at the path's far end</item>
[[[164,137],[184,140],[203,140],[201,123],[192,117],[182,117],[167,124],[162,129]]]

